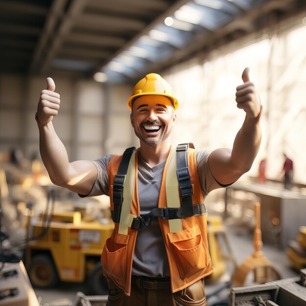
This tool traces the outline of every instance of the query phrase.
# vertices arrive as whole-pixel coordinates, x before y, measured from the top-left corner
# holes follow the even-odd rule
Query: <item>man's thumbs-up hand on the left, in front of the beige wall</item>
[[[58,114],[60,109],[60,95],[54,91],[55,83],[51,78],[47,78],[47,89],[41,92],[37,106],[36,119],[40,124],[47,124]]]

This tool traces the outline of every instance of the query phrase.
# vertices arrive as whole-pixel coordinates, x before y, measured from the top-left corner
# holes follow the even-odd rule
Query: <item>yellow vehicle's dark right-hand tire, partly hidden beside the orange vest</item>
[[[109,285],[106,277],[103,275],[103,268],[101,262],[97,262],[92,268],[88,284],[90,291],[95,295],[107,295],[109,294]]]

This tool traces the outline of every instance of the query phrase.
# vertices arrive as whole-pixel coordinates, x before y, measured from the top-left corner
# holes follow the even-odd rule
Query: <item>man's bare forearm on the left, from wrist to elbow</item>
[[[38,123],[40,134],[40,153],[51,181],[63,186],[68,181],[68,155],[63,142],[56,134],[52,121]]]

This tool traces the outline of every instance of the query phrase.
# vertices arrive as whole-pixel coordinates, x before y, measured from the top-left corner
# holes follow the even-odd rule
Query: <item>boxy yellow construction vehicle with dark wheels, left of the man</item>
[[[93,294],[106,294],[107,281],[100,262],[113,222],[84,222],[80,212],[53,213],[48,226],[44,214],[32,219],[35,240],[26,247],[26,268],[34,287],[48,288],[59,281],[84,282]],[[47,228],[47,230],[46,230]]]

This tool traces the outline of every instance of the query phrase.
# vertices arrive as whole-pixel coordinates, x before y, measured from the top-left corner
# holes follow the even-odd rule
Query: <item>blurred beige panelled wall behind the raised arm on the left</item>
[[[126,106],[131,86],[57,77],[54,81],[61,108],[53,124],[70,160],[121,153],[135,142]],[[43,77],[0,75],[0,152],[21,149],[27,158],[39,152],[34,116],[45,87]]]

